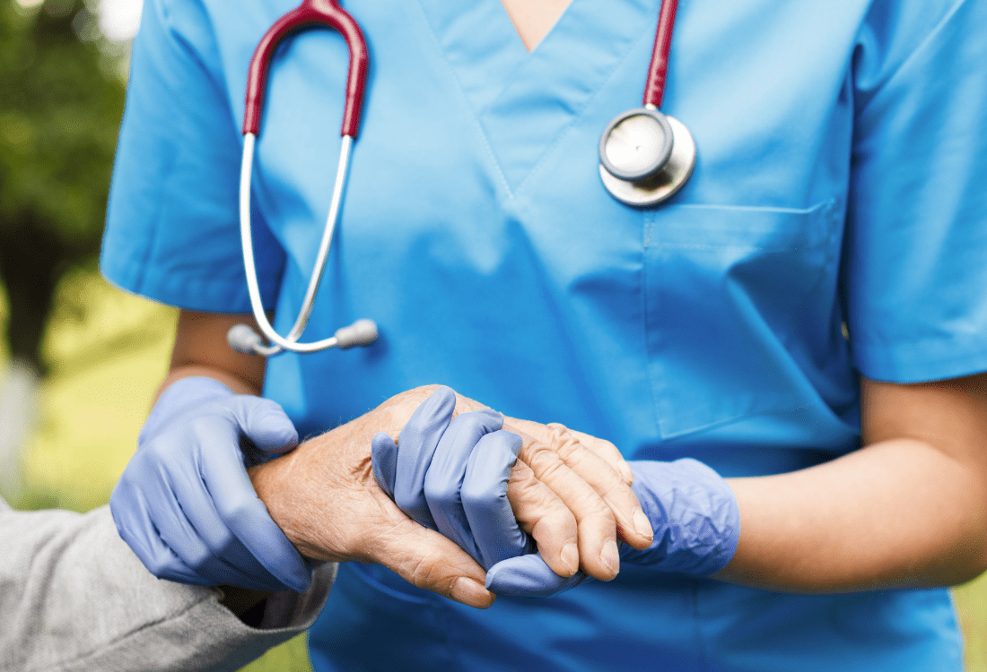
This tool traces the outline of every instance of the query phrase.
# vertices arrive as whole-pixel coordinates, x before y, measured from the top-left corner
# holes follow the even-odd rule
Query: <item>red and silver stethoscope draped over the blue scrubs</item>
[[[696,143],[688,129],[679,120],[658,110],[664,97],[668,51],[677,8],[678,0],[661,2],[645,85],[644,106],[619,114],[607,125],[600,137],[600,178],[603,185],[618,201],[634,207],[653,206],[670,198],[682,188],[696,165]],[[254,149],[261,129],[261,110],[270,58],[285,37],[309,28],[332,28],[342,34],[349,51],[349,70],[342,113],[340,163],[336,171],[329,216],[301,309],[291,330],[282,337],[267,320],[264,303],[261,301],[251,233],[251,177],[254,170]],[[244,151],[240,168],[240,239],[251,308],[270,345],[265,345],[261,334],[252,327],[238,324],[226,335],[230,347],[237,352],[271,357],[285,351],[312,353],[333,347],[344,349],[357,345],[367,346],[377,340],[377,325],[369,319],[358,319],[339,329],[330,338],[311,343],[298,342],[312,314],[315,295],[326,268],[333,232],[340,216],[349,157],[353,140],[359,131],[368,63],[363,33],[356,21],[340,7],[338,0],[302,0],[301,5],[270,27],[254,52],[247,78],[247,106],[244,112]]]

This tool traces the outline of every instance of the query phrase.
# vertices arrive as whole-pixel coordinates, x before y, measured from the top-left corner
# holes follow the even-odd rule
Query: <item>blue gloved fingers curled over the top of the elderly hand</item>
[[[507,500],[521,437],[501,430],[503,416],[491,409],[453,419],[455,406],[455,393],[439,387],[418,406],[398,444],[384,433],[373,438],[378,485],[419,524],[455,541],[485,570],[524,556],[534,571],[557,579],[544,594],[581,582],[586,577],[581,571],[563,577],[549,568]]]

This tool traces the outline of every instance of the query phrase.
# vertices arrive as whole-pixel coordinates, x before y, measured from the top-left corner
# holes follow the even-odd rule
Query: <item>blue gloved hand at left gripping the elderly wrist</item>
[[[311,568],[270,519],[245,458],[297,444],[275,402],[208,377],[178,380],[151,410],[114,488],[116,529],[159,578],[304,591]]]

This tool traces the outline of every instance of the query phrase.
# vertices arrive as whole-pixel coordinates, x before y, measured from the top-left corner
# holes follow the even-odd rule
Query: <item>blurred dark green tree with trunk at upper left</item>
[[[0,3],[0,279],[14,357],[41,369],[60,276],[103,231],[124,85],[82,0]]]

